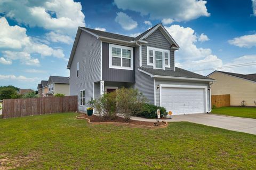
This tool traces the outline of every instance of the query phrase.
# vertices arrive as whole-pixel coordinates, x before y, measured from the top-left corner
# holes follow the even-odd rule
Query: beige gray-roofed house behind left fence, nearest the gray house
[[[54,96],[54,94],[61,93],[66,96],[69,95],[69,77],[50,76],[47,82],[46,96]]]

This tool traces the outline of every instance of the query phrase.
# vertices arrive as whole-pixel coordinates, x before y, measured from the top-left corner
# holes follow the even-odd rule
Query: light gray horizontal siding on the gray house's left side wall
[[[87,102],[93,97],[93,84],[100,80],[100,51],[100,40],[82,31],[70,66],[70,95],[78,95],[80,111],[86,110]],[[78,77],[77,62],[79,62]],[[80,90],[85,90],[86,106],[80,107]]]

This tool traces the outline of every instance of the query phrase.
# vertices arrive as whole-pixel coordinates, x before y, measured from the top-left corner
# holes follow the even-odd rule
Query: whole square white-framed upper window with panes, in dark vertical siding
[[[133,70],[133,48],[109,44],[109,68]]]

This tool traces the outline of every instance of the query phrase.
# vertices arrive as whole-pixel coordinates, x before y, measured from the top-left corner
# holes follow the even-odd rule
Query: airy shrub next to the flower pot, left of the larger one
[[[103,94],[99,99],[93,102],[95,112],[103,119],[112,119],[116,117],[116,93]]]

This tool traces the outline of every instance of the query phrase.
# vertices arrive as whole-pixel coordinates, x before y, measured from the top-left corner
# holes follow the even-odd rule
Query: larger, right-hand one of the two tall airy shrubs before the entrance
[[[116,90],[116,108],[126,121],[129,121],[135,112],[140,112],[146,98],[137,89],[119,88]]]

